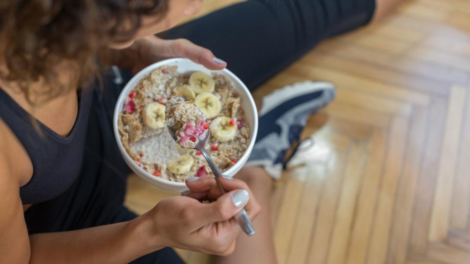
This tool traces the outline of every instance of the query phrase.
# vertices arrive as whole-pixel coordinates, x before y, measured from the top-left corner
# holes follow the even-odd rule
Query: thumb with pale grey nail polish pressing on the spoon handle
[[[233,218],[250,200],[248,191],[239,189],[228,192],[219,197],[215,202],[202,203],[200,220],[202,225],[213,222],[222,222]]]

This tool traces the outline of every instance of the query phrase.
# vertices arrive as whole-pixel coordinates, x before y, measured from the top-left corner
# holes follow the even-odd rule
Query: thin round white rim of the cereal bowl
[[[154,64],[151,64],[151,65],[146,66],[145,68],[141,69],[137,74],[135,74],[127,82],[127,84],[124,86],[124,88],[122,88],[122,90],[120,91],[118,100],[116,101],[116,106],[115,106],[115,109],[114,109],[114,113],[113,113],[113,131],[114,131],[114,134],[115,134],[115,138],[116,138],[116,141],[118,143],[119,151],[121,152],[121,155],[123,155],[124,160],[128,161],[127,162],[128,165],[132,166],[135,169],[137,169],[142,175],[145,175],[148,178],[148,180],[157,181],[157,182],[160,182],[162,184],[166,184],[166,185],[170,185],[170,186],[174,186],[174,187],[183,187],[183,186],[186,186],[186,183],[185,182],[175,182],[175,181],[166,180],[166,179],[163,179],[163,178],[160,178],[160,177],[155,177],[155,176],[151,175],[150,173],[148,173],[147,171],[145,171],[144,169],[142,169],[140,166],[137,166],[137,164],[135,164],[134,160],[129,156],[127,151],[124,149],[124,146],[122,145],[122,142],[120,140],[120,134],[119,134],[119,130],[118,130],[118,116],[119,116],[120,111],[122,110],[122,107],[120,107],[120,106],[122,105],[122,103],[124,101],[124,97],[127,96],[127,94],[129,93],[129,91],[126,91],[126,90],[130,90],[130,89],[133,89],[133,88],[136,87],[134,85],[131,88],[131,85],[130,85],[131,83],[134,83],[136,81],[137,81],[137,83],[139,83],[139,81],[142,79],[142,77],[144,77],[145,75],[149,74],[151,71],[153,71],[153,70],[155,70],[155,69],[157,69],[161,66],[168,65],[168,64],[173,64],[173,63],[180,63],[180,62],[182,62],[182,63],[188,63],[189,62],[191,64],[197,64],[197,63],[195,63],[195,62],[193,62],[193,61],[191,61],[187,58],[171,58],[171,59],[166,59],[166,60],[163,60],[163,61],[156,62]],[[246,87],[246,85],[240,80],[240,78],[238,78],[229,69],[224,68],[224,69],[221,69],[221,70],[211,70],[211,69],[208,69],[208,70],[210,70],[211,72],[223,73],[224,75],[228,75],[228,76],[232,77],[235,80],[235,82],[237,82],[240,85],[242,90],[248,95],[247,97],[248,97],[249,104],[253,108],[253,118],[254,118],[253,120],[254,120],[254,122],[253,122],[253,128],[251,128],[250,143],[248,144],[248,147],[245,150],[245,153],[238,160],[238,162],[241,161],[244,165],[246,163],[246,161],[248,161],[249,154],[251,154],[251,151],[253,150],[253,147],[255,145],[255,140],[256,140],[256,137],[257,137],[257,134],[258,134],[258,110],[257,110],[256,104],[255,104],[255,100],[253,99],[253,95],[251,94],[250,90]],[[236,164],[235,164],[234,166],[230,167],[226,172],[224,172],[224,174],[231,174],[235,170],[239,171],[241,168],[237,168]],[[156,185],[156,186],[158,186],[158,185]]]

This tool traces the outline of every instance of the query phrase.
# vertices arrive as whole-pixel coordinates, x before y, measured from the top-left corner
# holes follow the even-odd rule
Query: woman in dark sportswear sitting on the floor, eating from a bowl
[[[324,38],[380,18],[398,0],[251,0],[182,25],[161,36],[210,47],[250,88]],[[129,172],[114,142],[111,113],[119,89],[94,73],[104,63],[137,72],[169,57],[210,69],[227,64],[187,40],[153,35],[201,9],[202,0],[11,0],[0,3],[0,259],[4,263],[181,263],[169,247],[229,257],[219,263],[275,263],[269,225],[271,178],[298,138],[306,116],[276,155],[259,147],[252,164],[222,179],[191,178],[186,196],[160,201],[137,217],[123,205]],[[128,79],[128,71],[120,74]],[[119,74],[118,74],[119,75]],[[99,83],[105,88],[100,90]],[[120,83],[120,82],[117,82]],[[306,84],[309,86],[311,84]],[[309,95],[318,88],[306,88]],[[295,93],[294,90],[283,90]],[[308,112],[327,103],[308,105]],[[267,123],[294,109],[269,97]],[[305,96],[304,98],[310,98]],[[276,102],[276,104],[272,103]],[[292,106],[289,106],[293,104]],[[295,114],[295,112],[294,112]],[[273,128],[275,129],[275,128]],[[279,133],[282,134],[282,133]],[[279,152],[279,153],[278,153]],[[280,158],[281,157],[281,158]],[[262,166],[261,166],[262,165]],[[274,168],[274,169],[273,169]],[[242,179],[242,180],[240,180]],[[252,192],[252,189],[255,190]],[[201,203],[195,198],[211,198]],[[261,215],[260,204],[264,211]],[[245,207],[258,234],[248,239],[232,217]],[[257,218],[257,216],[259,217]],[[70,231],[74,230],[74,231]],[[237,247],[235,250],[235,240]],[[143,256],[143,257],[142,257]]]

